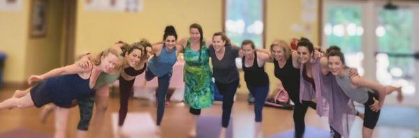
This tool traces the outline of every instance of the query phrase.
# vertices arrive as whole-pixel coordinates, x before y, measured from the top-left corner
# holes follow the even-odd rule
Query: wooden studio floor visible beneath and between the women
[[[9,98],[17,88],[3,87],[0,89],[0,101]],[[238,95],[237,102],[233,107],[232,117],[234,118],[234,136],[235,137],[252,137],[253,136],[253,105],[248,105],[246,102],[247,95]],[[110,96],[108,112],[104,120],[103,131],[100,134],[91,134],[89,137],[112,137],[112,124],[110,114],[118,112],[119,97]],[[152,114],[154,120],[156,119],[156,107],[148,100],[131,99],[129,102],[129,112],[149,112]],[[7,109],[0,110],[0,133],[15,130],[17,128],[28,128],[29,130],[36,130],[40,132],[47,132],[52,134],[54,132],[54,116],[50,116],[47,123],[43,124],[39,120],[41,109],[31,107],[29,109]],[[204,109],[203,115],[216,115],[221,116],[221,105],[214,104],[210,109]],[[284,109],[275,109],[272,107],[265,107],[263,109],[263,133],[264,137],[284,132],[293,129],[293,112]],[[189,107],[184,106],[183,103],[174,103],[166,108],[163,123],[161,125],[163,135],[162,137],[187,137],[189,128],[193,124],[189,114]],[[68,118],[68,137],[75,137],[75,130],[77,128],[79,113],[78,107],[71,109],[71,115]],[[417,119],[417,118],[416,118]],[[324,118],[319,118],[314,110],[309,109],[306,116],[306,125],[314,128],[321,128],[328,130],[328,123]],[[220,121],[221,122],[221,121]],[[138,124],[141,125],[141,124]],[[355,135],[351,137],[359,137],[361,126],[358,124],[354,126]],[[92,128],[90,128],[92,129]],[[358,131],[359,130],[359,131]],[[374,131],[374,137],[413,137],[418,130],[409,128],[380,128]],[[408,135],[399,135],[399,134]]]

